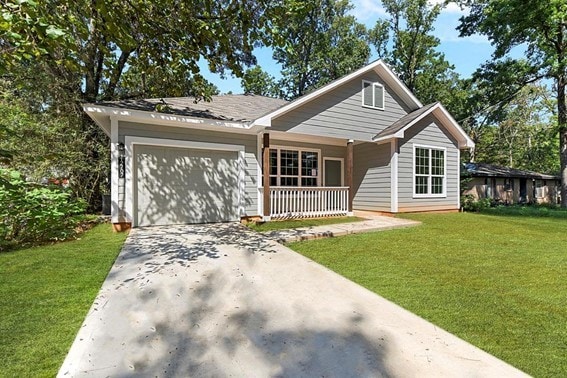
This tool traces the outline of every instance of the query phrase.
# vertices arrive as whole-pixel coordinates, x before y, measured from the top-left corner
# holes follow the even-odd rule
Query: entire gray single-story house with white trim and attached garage
[[[84,109],[111,140],[112,222],[134,227],[458,210],[460,149],[474,146],[380,60],[293,102],[223,95]]]

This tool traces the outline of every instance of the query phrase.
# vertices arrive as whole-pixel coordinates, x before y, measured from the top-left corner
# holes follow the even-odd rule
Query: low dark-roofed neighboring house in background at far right
[[[463,194],[477,200],[489,198],[505,204],[559,203],[559,176],[483,163],[467,163],[465,172],[471,180]]]

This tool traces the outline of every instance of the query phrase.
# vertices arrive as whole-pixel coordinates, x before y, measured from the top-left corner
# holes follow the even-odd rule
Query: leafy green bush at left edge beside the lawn
[[[0,168],[0,251],[73,237],[85,209],[63,188],[29,183],[18,171]]]

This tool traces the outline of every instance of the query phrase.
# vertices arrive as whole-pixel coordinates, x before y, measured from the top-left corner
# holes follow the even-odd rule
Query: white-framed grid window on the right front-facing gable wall
[[[445,149],[414,147],[415,197],[445,196]]]

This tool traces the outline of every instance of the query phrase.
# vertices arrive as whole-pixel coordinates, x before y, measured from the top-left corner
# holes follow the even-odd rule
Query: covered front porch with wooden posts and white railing
[[[263,219],[352,215],[353,141],[325,138],[332,147],[315,148],[305,147],[297,136],[288,134],[282,142],[281,134],[274,134],[279,135],[276,144],[269,133],[261,139]]]

